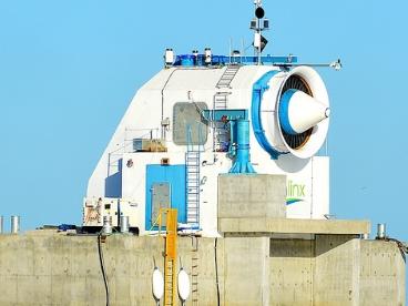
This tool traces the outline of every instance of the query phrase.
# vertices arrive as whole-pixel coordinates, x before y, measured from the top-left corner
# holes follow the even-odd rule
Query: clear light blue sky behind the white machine
[[[88,178],[162,54],[252,39],[252,1],[0,1],[0,214],[81,222]],[[408,2],[272,1],[265,53],[320,70],[332,102],[332,212],[408,241]]]

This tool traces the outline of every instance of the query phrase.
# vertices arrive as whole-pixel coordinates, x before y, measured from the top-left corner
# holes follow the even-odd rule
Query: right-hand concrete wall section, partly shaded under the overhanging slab
[[[406,305],[405,269],[395,243],[271,239],[269,305]]]

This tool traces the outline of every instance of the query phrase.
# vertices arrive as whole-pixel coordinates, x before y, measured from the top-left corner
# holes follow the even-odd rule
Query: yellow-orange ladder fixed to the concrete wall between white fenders
[[[161,208],[166,223],[165,254],[164,254],[164,305],[176,305],[176,258],[177,258],[177,210]],[[162,217],[160,227],[162,228]]]

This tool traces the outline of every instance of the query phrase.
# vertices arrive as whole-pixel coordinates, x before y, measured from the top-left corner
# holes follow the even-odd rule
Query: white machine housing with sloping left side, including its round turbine
[[[228,84],[223,82],[226,74],[233,74]],[[293,82],[294,85],[288,82]],[[300,83],[295,84],[296,82]],[[289,106],[280,110],[285,85],[295,88],[302,93],[300,99],[292,96],[285,102]],[[258,101],[259,109],[255,110],[255,96],[259,86],[263,86]],[[182,204],[178,200],[183,198],[183,193],[184,202],[188,202],[190,196],[193,196],[188,194],[188,186],[185,187],[191,178],[186,166],[186,153],[193,150],[200,151],[196,165],[198,174],[194,178],[197,182],[198,193],[197,196],[194,195],[198,201],[198,230],[204,236],[218,235],[217,177],[218,174],[228,172],[233,161],[227,152],[215,147],[220,140],[216,135],[220,132],[216,124],[198,122],[197,124],[203,128],[200,131],[205,131],[203,135],[200,135],[200,132],[197,134],[197,130],[194,129],[192,133],[188,132],[187,125],[183,132],[180,128],[183,122],[178,122],[174,112],[176,110],[180,113],[188,112],[193,106],[198,113],[202,109],[220,109],[220,101],[225,104],[222,109],[249,111],[253,166],[257,173],[287,176],[287,217],[325,218],[329,214],[329,157],[317,153],[326,140],[329,123],[326,88],[317,72],[309,67],[287,70],[275,65],[251,64],[235,68],[171,67],[163,69],[146,82],[133,98],[89,180],[84,215],[89,205],[86,203],[92,202],[92,198],[111,197],[119,201],[128,198],[133,203],[133,206],[128,205],[126,208],[130,225],[137,227],[140,234],[143,234],[154,226],[153,218],[156,212],[153,212],[152,198],[155,198],[159,206],[171,201],[170,205],[182,205],[180,206],[182,210],[188,211],[190,204]],[[297,108],[290,109],[293,103]],[[304,110],[299,104],[305,104]],[[312,104],[314,106],[310,108],[317,111],[308,111],[308,105]],[[302,131],[306,134],[287,134],[280,122],[283,116],[282,114],[279,116],[279,112],[286,112],[285,118],[288,121],[286,123],[295,128],[298,123],[296,118],[302,119],[305,114],[306,123],[300,122],[300,125],[304,124],[303,129],[307,128],[306,132]],[[257,115],[258,118],[254,120]],[[185,115],[183,120],[187,122],[188,118],[191,115]],[[255,129],[256,124],[262,129]],[[193,137],[198,139],[198,142],[200,137],[205,141],[202,144],[191,143],[188,137],[194,133]],[[186,136],[186,143],[181,144],[183,136]],[[140,139],[153,141],[160,139],[161,143],[165,143],[165,147],[134,151],[133,142]],[[160,166],[163,165],[170,166],[164,170],[165,173],[161,173]],[[185,182],[181,182],[183,166],[186,173]],[[162,184],[153,187],[152,175],[155,175],[157,183],[163,183],[163,177],[173,177],[171,186]],[[157,188],[164,191],[160,196],[154,195]],[[185,223],[188,223],[188,212],[184,214]],[[90,225],[85,221],[84,218],[83,225]],[[98,224],[101,224],[100,222]]]

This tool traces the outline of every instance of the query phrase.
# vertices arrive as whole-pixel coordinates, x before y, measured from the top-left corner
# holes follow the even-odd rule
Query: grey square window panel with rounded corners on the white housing
[[[173,142],[178,145],[201,144],[207,141],[208,126],[201,112],[204,102],[177,102],[173,108]]]

